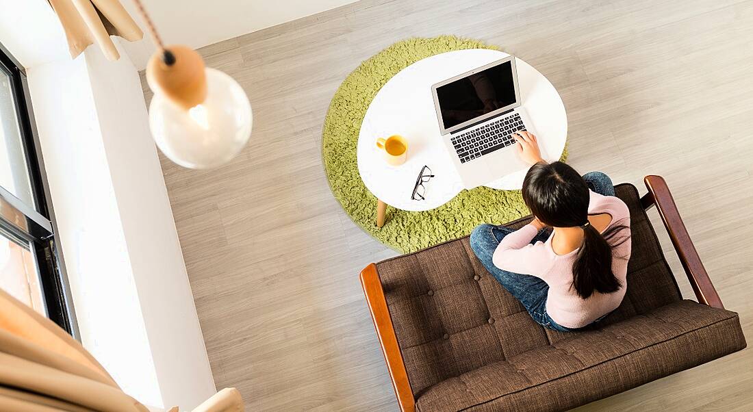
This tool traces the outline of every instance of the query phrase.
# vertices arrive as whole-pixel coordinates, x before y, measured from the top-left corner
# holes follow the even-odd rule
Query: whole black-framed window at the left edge
[[[0,44],[0,288],[74,333],[26,75]]]

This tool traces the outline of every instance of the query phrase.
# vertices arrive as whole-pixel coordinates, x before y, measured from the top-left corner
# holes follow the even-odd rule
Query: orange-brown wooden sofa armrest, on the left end
[[[369,307],[374,328],[377,328],[377,337],[379,337],[384,359],[387,362],[389,377],[392,378],[392,387],[395,389],[395,395],[398,396],[400,409],[404,412],[413,412],[416,409],[416,399],[413,398],[413,391],[410,389],[408,373],[405,370],[400,346],[398,346],[395,328],[392,326],[392,317],[389,316],[376,264],[370,264],[361,270],[361,285],[364,288],[366,304]]]

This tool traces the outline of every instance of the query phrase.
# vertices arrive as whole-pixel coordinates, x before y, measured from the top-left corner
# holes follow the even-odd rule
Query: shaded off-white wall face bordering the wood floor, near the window
[[[125,53],[117,62],[95,48],[85,54],[163,406],[194,407],[214,395],[215,382],[141,80]]]

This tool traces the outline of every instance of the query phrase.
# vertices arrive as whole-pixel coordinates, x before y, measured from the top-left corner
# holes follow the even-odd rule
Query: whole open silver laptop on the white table
[[[431,93],[442,139],[465,188],[528,169],[512,133],[536,132],[520,102],[514,56],[434,84]]]

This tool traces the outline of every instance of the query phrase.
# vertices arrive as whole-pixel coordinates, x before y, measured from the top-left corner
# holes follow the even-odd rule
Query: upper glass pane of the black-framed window
[[[0,68],[0,186],[34,207],[26,155],[11,93],[11,78]]]

